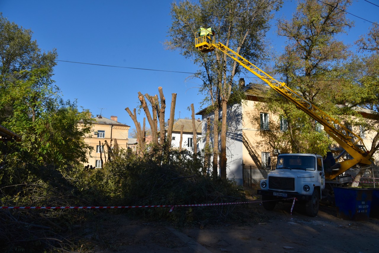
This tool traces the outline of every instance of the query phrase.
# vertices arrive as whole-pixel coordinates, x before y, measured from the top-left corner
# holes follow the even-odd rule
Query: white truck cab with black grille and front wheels
[[[280,154],[276,169],[268,178],[260,181],[262,204],[266,210],[273,210],[278,201],[292,201],[293,198],[305,204],[307,215],[318,213],[321,191],[325,188],[323,157],[315,154]]]

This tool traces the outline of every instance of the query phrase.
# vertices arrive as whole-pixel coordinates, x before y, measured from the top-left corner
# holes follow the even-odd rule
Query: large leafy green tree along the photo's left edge
[[[0,15],[0,111],[2,125],[22,135],[22,142],[8,143],[0,153],[7,163],[0,173],[8,183],[18,171],[19,180],[44,175],[52,166],[65,171],[85,162],[89,146],[83,137],[91,130],[90,113],[60,98],[52,80],[55,50],[41,52],[31,31]],[[79,122],[84,123],[78,128]],[[2,175],[0,175],[0,178]]]

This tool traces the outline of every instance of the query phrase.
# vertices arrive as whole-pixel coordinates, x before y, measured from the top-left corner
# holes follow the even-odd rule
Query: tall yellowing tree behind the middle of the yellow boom
[[[337,40],[352,26],[345,12],[351,2],[301,0],[292,19],[277,22],[278,34],[287,37],[287,45],[276,71],[291,89],[330,114],[335,110],[333,96],[341,90],[340,83],[330,80],[337,79],[335,68],[351,55],[348,46]],[[280,98],[271,105],[275,111],[278,108],[288,122],[285,134],[292,152],[324,153],[328,149],[330,141],[319,130],[319,123]]]

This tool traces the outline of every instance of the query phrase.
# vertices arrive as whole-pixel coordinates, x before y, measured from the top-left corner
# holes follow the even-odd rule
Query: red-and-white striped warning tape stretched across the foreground
[[[288,198],[295,199],[296,198]],[[287,200],[287,199],[281,199]],[[268,200],[275,201],[275,200]],[[210,203],[210,204],[191,204],[191,205],[160,205],[160,206],[1,206],[0,209],[116,209],[116,208],[139,208],[139,207],[171,207],[169,212],[172,212],[175,207],[197,207],[197,206],[223,206],[235,204],[251,204],[266,201],[245,201],[245,202],[226,202],[226,203]],[[291,212],[294,206],[292,204]]]

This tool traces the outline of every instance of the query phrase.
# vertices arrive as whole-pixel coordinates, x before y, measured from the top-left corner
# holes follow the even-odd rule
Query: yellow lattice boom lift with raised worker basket
[[[334,179],[356,164],[366,165],[371,164],[373,161],[373,158],[366,151],[367,149],[360,136],[353,133],[346,126],[342,125],[338,119],[334,119],[330,115],[326,114],[326,112],[317,108],[304,97],[299,95],[299,93],[290,89],[290,87],[288,87],[284,82],[277,81],[269,74],[265,73],[265,71],[261,70],[221,42],[216,43],[214,36],[210,36],[209,34],[206,36],[200,36],[199,33],[196,33],[195,47],[203,53],[211,52],[215,49],[222,51],[224,54],[240,63],[241,66],[249,70],[255,76],[265,81],[266,84],[276,90],[280,95],[284,96],[293,104],[295,104],[296,108],[304,111],[306,114],[324,126],[324,130],[352,157],[351,160],[340,162],[340,168],[333,169],[332,172],[329,173],[326,172],[326,180]]]

